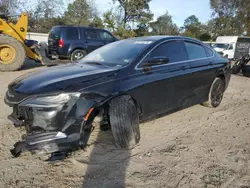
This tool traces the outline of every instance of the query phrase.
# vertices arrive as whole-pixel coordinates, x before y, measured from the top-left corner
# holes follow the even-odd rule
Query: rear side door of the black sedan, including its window
[[[210,86],[216,75],[214,52],[202,44],[185,40],[188,60],[190,63],[190,88],[193,104],[207,100]]]

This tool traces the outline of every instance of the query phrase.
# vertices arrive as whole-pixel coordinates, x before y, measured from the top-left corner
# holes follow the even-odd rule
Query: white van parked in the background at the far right
[[[242,56],[250,54],[250,37],[219,36],[212,46],[224,57],[238,60]]]

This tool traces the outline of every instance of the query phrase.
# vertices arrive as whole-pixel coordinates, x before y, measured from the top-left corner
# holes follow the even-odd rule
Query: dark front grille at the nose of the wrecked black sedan
[[[19,104],[28,96],[29,94],[19,93],[9,89],[5,94],[5,101],[7,104]]]

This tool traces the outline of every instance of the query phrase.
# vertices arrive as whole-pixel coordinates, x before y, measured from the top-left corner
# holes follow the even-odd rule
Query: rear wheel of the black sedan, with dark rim
[[[224,88],[224,81],[221,78],[215,78],[209,90],[208,101],[202,105],[210,108],[218,107],[223,99]]]

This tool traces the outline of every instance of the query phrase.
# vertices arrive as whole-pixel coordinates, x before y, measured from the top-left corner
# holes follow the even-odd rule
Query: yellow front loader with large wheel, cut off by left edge
[[[22,13],[14,24],[11,17],[0,15],[0,71],[18,70],[25,58],[55,64],[47,57],[46,47],[26,40],[28,29],[28,14]]]

